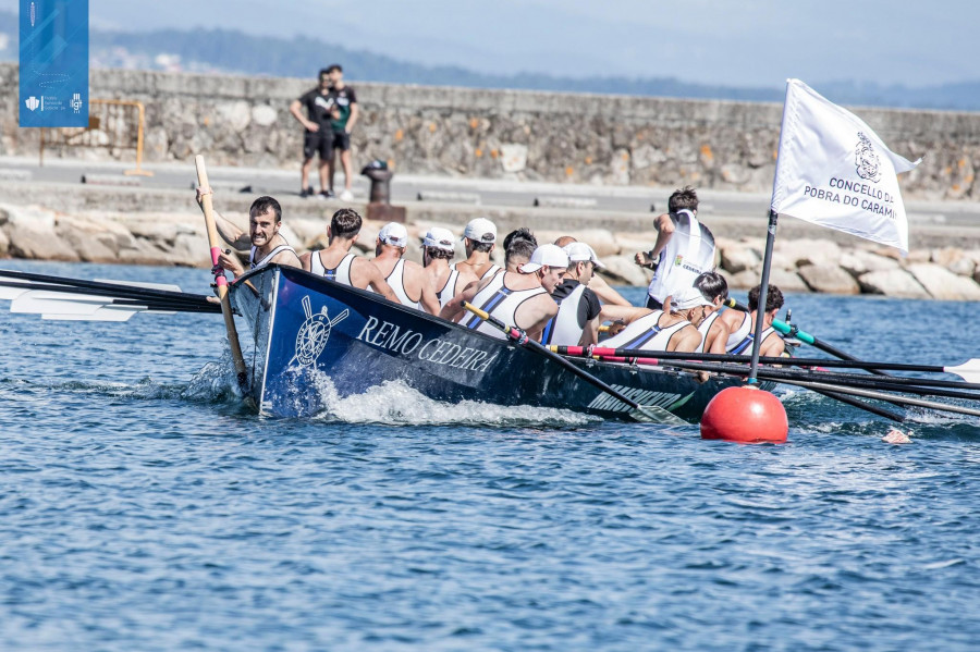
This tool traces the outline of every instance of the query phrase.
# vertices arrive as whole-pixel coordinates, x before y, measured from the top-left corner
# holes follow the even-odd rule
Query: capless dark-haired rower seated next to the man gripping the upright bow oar
[[[381,270],[367,258],[351,253],[360,225],[362,219],[356,210],[342,208],[333,213],[327,227],[327,248],[301,256],[303,269],[351,287],[370,287],[388,300],[399,303]]]

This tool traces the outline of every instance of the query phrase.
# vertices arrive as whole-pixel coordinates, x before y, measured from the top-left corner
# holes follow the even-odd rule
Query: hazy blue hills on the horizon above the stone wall
[[[0,59],[17,59],[17,22],[16,15],[11,12],[0,12]],[[236,73],[310,79],[316,76],[317,70],[336,62],[343,64],[347,77],[355,81],[476,88],[772,102],[782,101],[784,94],[782,86],[712,86],[663,77],[573,78],[536,73],[490,75],[454,65],[421,65],[303,36],[290,39],[259,38],[226,29],[159,29],[140,33],[93,29],[90,59],[94,67]],[[829,99],[845,104],[980,110],[980,82],[908,88],[844,81],[819,84],[818,90]]]

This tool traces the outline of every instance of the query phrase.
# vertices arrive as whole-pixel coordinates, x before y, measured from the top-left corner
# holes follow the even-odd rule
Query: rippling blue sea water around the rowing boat
[[[980,357],[975,305],[787,306],[863,358]],[[976,418],[911,411],[889,445],[789,390],[789,443],[745,446],[393,384],[271,419],[235,398],[222,332],[0,316],[0,649],[980,645]]]

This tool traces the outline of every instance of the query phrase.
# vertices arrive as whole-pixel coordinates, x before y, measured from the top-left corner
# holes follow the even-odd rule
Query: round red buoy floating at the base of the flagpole
[[[722,390],[701,417],[701,439],[743,444],[784,443],[788,432],[789,421],[780,399],[751,386]]]

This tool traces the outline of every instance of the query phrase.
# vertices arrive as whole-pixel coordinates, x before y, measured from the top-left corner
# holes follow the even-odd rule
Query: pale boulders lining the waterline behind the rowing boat
[[[244,212],[224,212],[243,229]],[[293,218],[283,235],[299,250],[326,246],[326,219]],[[380,222],[365,222],[356,247],[371,253]],[[421,260],[420,236],[431,225],[458,233],[460,223],[416,220],[406,257]],[[718,229],[716,229],[718,231]],[[573,235],[590,244],[608,266],[613,283],[645,286],[650,272],[633,262],[633,255],[653,247],[656,232],[614,232],[578,229],[536,230],[538,241]],[[758,284],[764,239],[718,238],[719,270],[732,288]],[[457,257],[464,256],[457,243]],[[182,212],[76,211],[71,214],[37,206],[0,205],[0,257],[133,265],[208,267],[207,236],[200,214]],[[242,253],[245,254],[245,253]],[[501,251],[494,251],[498,262]],[[915,249],[901,258],[894,249],[829,239],[776,239],[772,283],[785,292],[880,294],[904,298],[980,300],[980,248],[955,246]]]

